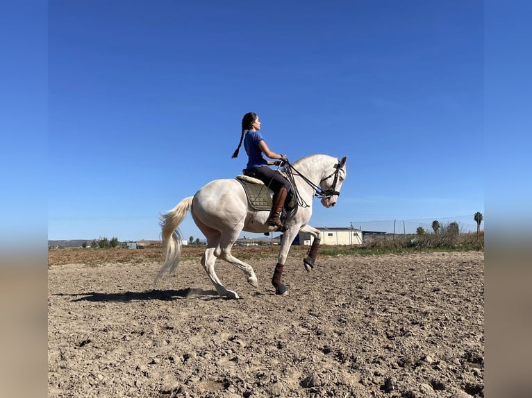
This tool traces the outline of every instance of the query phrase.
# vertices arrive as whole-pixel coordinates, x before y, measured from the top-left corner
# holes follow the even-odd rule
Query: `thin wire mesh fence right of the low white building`
[[[417,228],[422,227],[425,232],[433,232],[433,222],[438,221],[441,227],[457,223],[460,233],[476,232],[476,221],[473,214],[443,218],[420,218],[416,220],[381,220],[381,221],[351,221],[351,227],[362,231],[385,232],[387,234],[415,234]],[[483,223],[481,223],[483,230]]]

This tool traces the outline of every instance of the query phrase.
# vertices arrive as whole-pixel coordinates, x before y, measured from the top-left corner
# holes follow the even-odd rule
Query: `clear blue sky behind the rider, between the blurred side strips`
[[[338,205],[315,200],[315,227],[470,229],[484,212],[483,12],[458,0],[50,1],[48,238],[159,239],[161,213],[240,173],[246,112],[292,161],[348,157]],[[180,229],[203,239],[190,216]]]

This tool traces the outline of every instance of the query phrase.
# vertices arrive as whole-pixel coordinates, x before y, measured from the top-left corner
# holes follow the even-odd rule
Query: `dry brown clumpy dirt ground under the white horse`
[[[154,287],[160,250],[51,252],[49,397],[484,396],[483,252],[318,254],[308,273],[294,250],[278,296],[276,248],[253,250],[258,289],[217,264],[240,300],[196,253]]]

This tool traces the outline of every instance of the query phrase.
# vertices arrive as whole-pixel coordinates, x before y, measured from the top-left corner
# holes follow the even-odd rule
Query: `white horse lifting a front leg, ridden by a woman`
[[[340,188],[346,178],[345,163],[347,157],[338,160],[328,155],[310,155],[285,166],[288,178],[292,180],[292,193],[296,193],[297,204],[287,212],[281,249],[277,257],[272,284],[276,294],[283,295],[288,288],[281,283],[283,266],[290,245],[299,232],[308,232],[313,236],[313,245],[304,259],[307,271],[314,267],[320,232],[308,225],[312,216],[313,197],[322,198],[324,207],[333,207],[340,195]],[[288,202],[288,200],[287,200]],[[165,262],[157,279],[166,271],[174,271],[181,259],[181,232],[178,225],[190,210],[194,223],[207,239],[207,248],[201,257],[201,265],[219,295],[239,298],[235,291],[224,287],[215,272],[216,259],[222,259],[240,268],[247,275],[247,282],[257,288],[258,282],[253,268],[248,263],[231,254],[231,248],[240,232],[270,232],[267,225],[269,211],[256,211],[248,202],[242,184],[236,179],[214,180],[199,189],[194,196],[184,198],[176,207],[161,216],[163,244],[166,248]]]

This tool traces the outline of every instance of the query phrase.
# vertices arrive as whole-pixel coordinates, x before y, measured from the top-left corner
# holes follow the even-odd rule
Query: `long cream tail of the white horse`
[[[187,211],[192,206],[192,196],[185,198],[179,202],[174,209],[160,216],[161,236],[163,238],[163,245],[166,248],[166,257],[163,266],[160,268],[159,273],[155,279],[157,283],[158,279],[165,272],[172,272],[178,266],[181,260],[181,232],[178,229],[178,225],[181,224]]]

